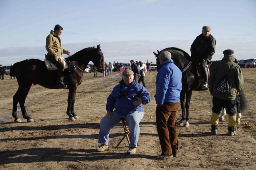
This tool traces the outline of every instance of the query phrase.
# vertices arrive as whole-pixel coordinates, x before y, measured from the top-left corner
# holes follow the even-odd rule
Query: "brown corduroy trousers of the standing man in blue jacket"
[[[156,128],[162,154],[172,154],[172,150],[178,149],[176,112],[179,106],[180,103],[168,102],[165,102],[162,106],[156,106]]]

